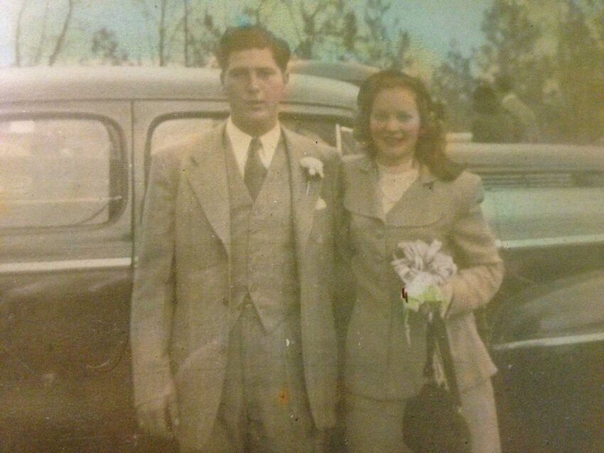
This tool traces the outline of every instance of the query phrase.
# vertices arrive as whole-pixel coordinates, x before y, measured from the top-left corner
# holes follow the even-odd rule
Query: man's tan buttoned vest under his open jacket
[[[267,331],[299,304],[290,182],[283,138],[255,201],[249,196],[232,151],[227,152],[231,304],[239,310],[249,295]]]

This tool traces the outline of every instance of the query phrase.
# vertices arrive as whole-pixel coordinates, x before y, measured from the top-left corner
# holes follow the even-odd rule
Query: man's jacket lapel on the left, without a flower
[[[185,166],[188,181],[217,236],[230,253],[230,202],[225,158],[225,125],[200,140]]]

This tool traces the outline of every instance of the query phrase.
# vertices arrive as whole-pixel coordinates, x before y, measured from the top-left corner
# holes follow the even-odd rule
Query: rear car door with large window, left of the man
[[[2,451],[134,429],[130,121],[125,101],[0,106]]]

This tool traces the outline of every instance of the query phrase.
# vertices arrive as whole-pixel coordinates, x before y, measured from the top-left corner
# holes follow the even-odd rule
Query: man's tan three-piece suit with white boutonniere
[[[255,200],[224,124],[153,156],[131,320],[135,402],[173,382],[183,449],[211,445],[230,411],[253,423],[271,404],[313,430],[335,424],[339,158],[281,130]]]

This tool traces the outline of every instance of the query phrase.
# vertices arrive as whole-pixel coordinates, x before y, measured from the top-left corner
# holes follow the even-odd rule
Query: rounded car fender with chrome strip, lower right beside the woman
[[[491,354],[505,452],[596,452],[604,444],[604,269],[505,300]]]

